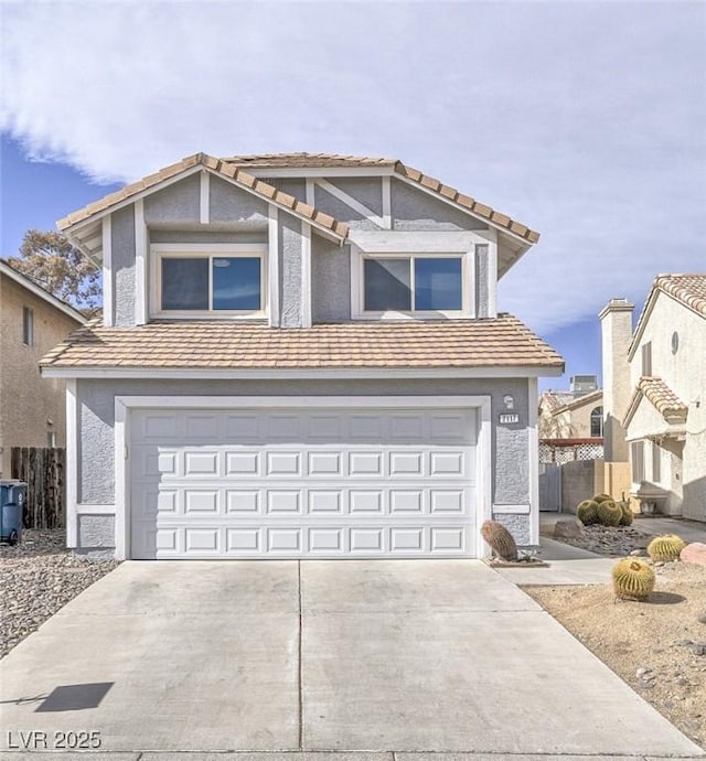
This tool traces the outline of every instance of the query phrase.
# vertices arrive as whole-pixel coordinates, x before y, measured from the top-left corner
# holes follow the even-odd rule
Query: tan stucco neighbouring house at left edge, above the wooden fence
[[[62,378],[42,378],[39,362],[84,324],[83,315],[0,259],[0,479],[12,447],[64,447]]]

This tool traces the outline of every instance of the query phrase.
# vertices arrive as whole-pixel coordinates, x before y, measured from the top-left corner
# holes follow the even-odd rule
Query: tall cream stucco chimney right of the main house
[[[628,299],[611,299],[598,315],[602,339],[603,457],[606,462],[627,462],[628,443],[621,421],[632,396],[628,349],[632,341],[632,311]]]

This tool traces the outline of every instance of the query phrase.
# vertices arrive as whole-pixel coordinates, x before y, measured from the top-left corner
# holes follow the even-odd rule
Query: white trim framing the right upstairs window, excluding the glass
[[[365,278],[366,259],[461,259],[461,309],[366,311]],[[471,251],[364,251],[354,249],[351,257],[351,314],[354,320],[438,320],[439,318],[472,318],[475,313],[475,262]],[[410,264],[409,288],[415,298],[415,268]]]

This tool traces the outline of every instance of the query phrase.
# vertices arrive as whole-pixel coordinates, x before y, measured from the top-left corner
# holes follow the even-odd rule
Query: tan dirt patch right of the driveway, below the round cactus
[[[610,585],[523,587],[663,716],[706,749],[706,567],[655,568],[646,602]]]

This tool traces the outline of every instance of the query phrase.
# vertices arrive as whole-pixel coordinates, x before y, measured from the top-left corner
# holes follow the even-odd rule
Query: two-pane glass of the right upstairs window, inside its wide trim
[[[461,256],[387,256],[363,259],[363,311],[459,312]]]

